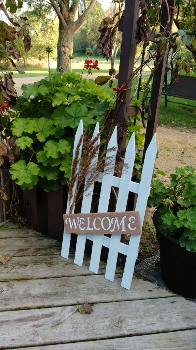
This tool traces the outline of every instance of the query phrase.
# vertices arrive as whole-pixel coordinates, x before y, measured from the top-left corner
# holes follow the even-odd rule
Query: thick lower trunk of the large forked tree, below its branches
[[[59,40],[57,44],[57,70],[60,66],[63,66],[64,71],[67,67],[68,56],[73,54],[73,21],[68,22],[64,27],[62,22],[59,21]],[[68,63],[67,69],[71,69],[71,61]]]

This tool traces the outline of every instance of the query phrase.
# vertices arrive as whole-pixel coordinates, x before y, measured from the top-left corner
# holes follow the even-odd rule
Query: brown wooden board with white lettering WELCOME
[[[141,235],[138,211],[64,214],[66,233]]]

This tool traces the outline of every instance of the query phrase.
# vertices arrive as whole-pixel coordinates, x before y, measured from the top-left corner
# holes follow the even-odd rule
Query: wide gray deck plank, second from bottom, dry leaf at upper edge
[[[182,297],[0,313],[2,349],[145,335],[196,328],[196,304]]]

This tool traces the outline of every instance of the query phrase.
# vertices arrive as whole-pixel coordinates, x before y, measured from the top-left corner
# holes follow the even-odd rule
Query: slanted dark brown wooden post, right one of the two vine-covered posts
[[[169,15],[170,15],[170,22],[167,26],[167,31],[171,31],[172,22],[173,22],[173,12],[174,9],[174,0],[167,0],[168,6],[169,6]],[[161,25],[160,25],[160,33],[164,31],[167,21],[168,21],[168,10],[166,4],[164,4],[163,10],[162,10],[162,16],[161,16]],[[151,117],[148,120],[147,128],[146,128],[146,136],[145,136],[145,142],[144,142],[144,152],[143,152],[143,160],[145,157],[146,149],[148,148],[150,141],[152,140],[152,137],[154,133],[156,132],[157,128],[157,121],[158,121],[158,115],[159,115],[159,107],[160,107],[160,100],[161,100],[161,94],[163,90],[163,82],[164,82],[164,75],[165,75],[165,68],[166,68],[166,62],[167,62],[167,55],[168,52],[166,51],[164,54],[164,57],[162,61],[157,66],[156,70],[154,71],[154,77],[152,82],[152,92],[151,92]],[[160,59],[160,55],[158,55],[156,62],[158,62]],[[142,161],[143,162],[143,161]]]

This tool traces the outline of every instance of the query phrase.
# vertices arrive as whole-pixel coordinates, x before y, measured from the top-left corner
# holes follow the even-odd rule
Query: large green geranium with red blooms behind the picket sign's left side
[[[51,48],[46,48],[49,54]],[[98,62],[87,61],[84,69],[91,73]],[[69,57],[73,58],[72,56]],[[83,71],[84,71],[83,69]],[[80,120],[84,130],[103,124],[110,98],[104,87],[93,79],[65,70],[54,71],[33,84],[22,85],[15,113],[4,121],[7,135],[13,135],[20,160],[10,166],[10,174],[22,189],[38,184],[45,191],[66,184],[70,176],[74,137]]]

